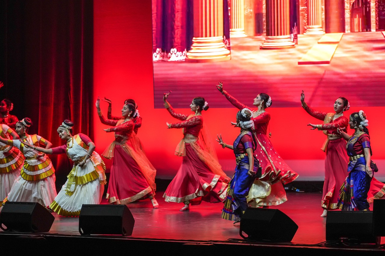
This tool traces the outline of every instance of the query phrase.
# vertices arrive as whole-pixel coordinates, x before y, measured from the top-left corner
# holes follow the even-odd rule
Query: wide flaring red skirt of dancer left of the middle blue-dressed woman
[[[202,200],[223,201],[227,187],[224,178],[212,173],[189,143],[186,143],[186,156],[182,158],[181,167],[163,195],[164,200],[175,203],[189,200],[192,205],[200,204]]]

